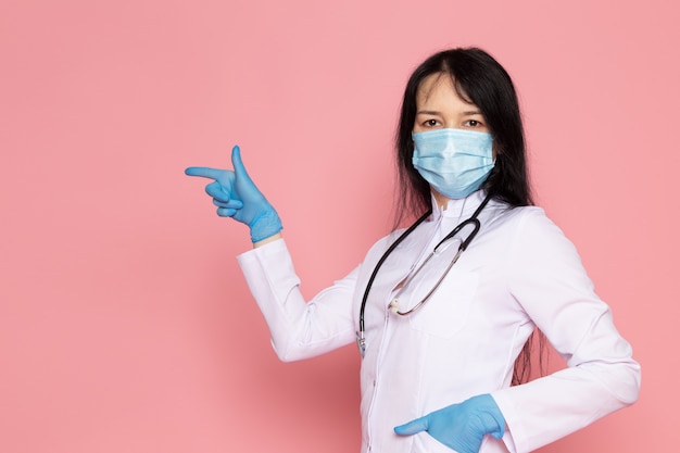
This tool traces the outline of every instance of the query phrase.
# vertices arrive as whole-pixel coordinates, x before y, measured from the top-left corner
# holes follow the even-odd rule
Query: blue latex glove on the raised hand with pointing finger
[[[185,174],[214,179],[205,186],[205,192],[213,198],[217,215],[248,225],[253,242],[284,229],[278,214],[245,172],[238,146],[231,150],[231,165],[234,171],[192,166]]]

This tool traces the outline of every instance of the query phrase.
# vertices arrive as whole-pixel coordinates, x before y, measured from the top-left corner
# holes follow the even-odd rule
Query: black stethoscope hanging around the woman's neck
[[[403,285],[401,286],[401,289],[399,290],[396,295],[392,298],[392,301],[388,305],[388,307],[393,314],[400,315],[400,316],[408,316],[417,312],[430,299],[430,295],[432,295],[435,291],[437,291],[437,288],[439,288],[444,277],[446,277],[446,275],[449,274],[449,270],[451,270],[451,267],[453,267],[455,262],[458,261],[458,257],[461,256],[461,254],[467,249],[467,247],[470,244],[473,239],[475,239],[475,236],[477,236],[477,232],[479,232],[479,229],[481,228],[481,223],[479,222],[477,217],[479,216],[479,213],[484,209],[487,203],[489,203],[490,199],[491,199],[491,196],[488,194],[484,198],[484,200],[481,202],[481,204],[477,207],[475,213],[473,213],[473,215],[468,219],[459,223],[455,228],[451,230],[451,232],[449,232],[441,241],[439,241],[439,243],[435,247],[435,249],[430,252],[430,254],[425,259],[423,264],[420,264],[420,266],[418,266],[418,268],[414,273],[412,273],[408,277],[406,277],[405,280],[407,281],[403,282]],[[385,263],[385,261],[388,259],[388,256],[390,256],[390,254],[394,251],[394,249],[404,239],[406,239],[406,237],[408,237],[408,235],[411,235],[418,227],[418,225],[425,222],[425,219],[428,218],[431,214],[432,214],[432,210],[429,210],[420,218],[418,218],[413,225],[411,225],[404,232],[402,232],[402,235],[399,238],[396,238],[396,240],[386,250],[382,256],[380,256],[380,260],[378,260],[378,264],[376,264],[376,267],[373,269],[373,274],[370,274],[370,278],[368,279],[368,284],[366,285],[366,290],[364,291],[364,297],[362,298],[362,305],[358,312],[358,331],[356,332],[356,344],[358,345],[358,351],[362,354],[362,358],[364,357],[364,354],[366,353],[366,338],[365,338],[366,330],[365,330],[365,323],[364,323],[366,301],[368,300],[368,293],[370,292],[373,282],[376,279],[376,276],[378,275],[378,270],[380,270],[382,263]],[[443,272],[441,277],[439,277],[439,279],[437,280],[432,289],[430,289],[427,292],[427,294],[425,294],[425,297],[417,304],[415,304],[411,310],[401,312],[399,310],[399,294],[405,289],[405,287],[408,285],[408,281],[412,281],[418,275],[418,273],[432,259],[432,256],[437,254],[440,247],[442,247],[448,240],[452,239],[455,235],[457,235],[463,228],[465,228],[468,225],[473,226],[473,230],[469,232],[469,235],[467,235],[467,238],[465,238],[465,240],[461,242],[461,246],[458,246],[458,250],[456,251],[455,255],[451,260],[451,263],[449,263],[445,270]]]

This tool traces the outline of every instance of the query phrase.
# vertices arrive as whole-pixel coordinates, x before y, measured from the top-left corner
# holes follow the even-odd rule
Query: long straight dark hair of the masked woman
[[[395,209],[395,225],[406,218],[419,217],[431,206],[430,187],[412,163],[414,144],[411,134],[416,118],[418,88],[432,74],[450,76],[457,95],[476,104],[487,121],[493,136],[496,161],[482,188],[511,209],[533,204],[527,173],[524,127],[513,80],[503,66],[483,50],[457,48],[428,58],[413,72],[406,84],[396,130],[400,204]],[[542,334],[534,332],[515,362],[514,385],[530,378],[534,336],[539,337],[539,358],[542,361],[545,340]]]

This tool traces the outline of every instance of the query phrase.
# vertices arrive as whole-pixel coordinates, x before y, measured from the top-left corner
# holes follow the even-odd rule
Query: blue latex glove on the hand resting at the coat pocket
[[[459,453],[478,453],[486,435],[501,439],[505,418],[490,394],[473,397],[459,404],[435,411],[394,428],[401,436],[427,431],[439,442]]]

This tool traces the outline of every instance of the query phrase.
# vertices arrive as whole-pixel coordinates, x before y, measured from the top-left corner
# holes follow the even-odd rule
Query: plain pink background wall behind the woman
[[[679,21],[672,0],[0,1],[0,451],[358,451],[356,350],[277,361],[247,228],[182,169],[239,143],[311,297],[389,228],[410,72],[470,45],[514,77],[538,201],[643,368],[637,405],[541,451],[673,449]]]

